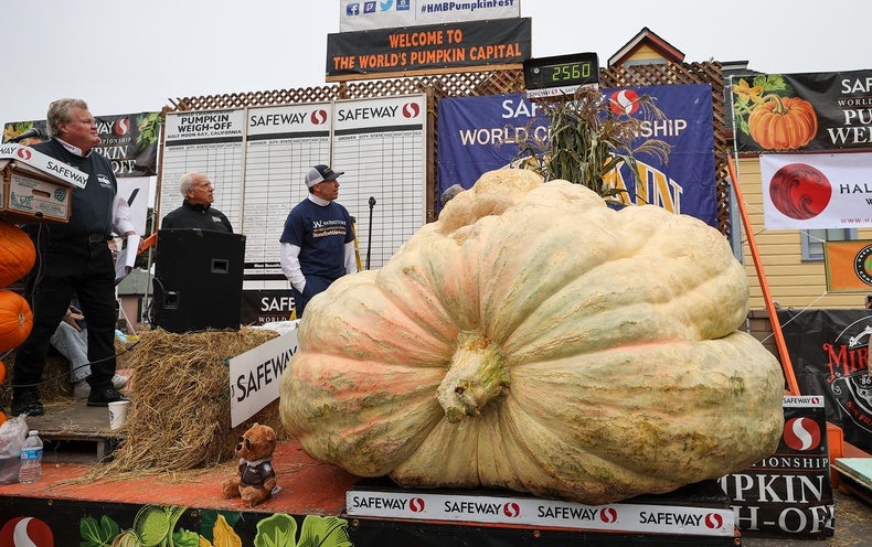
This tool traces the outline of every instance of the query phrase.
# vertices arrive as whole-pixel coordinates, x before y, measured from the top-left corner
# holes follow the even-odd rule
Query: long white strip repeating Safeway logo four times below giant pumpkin
[[[584,505],[534,497],[350,491],[351,516],[522,524],[562,528],[693,536],[733,536],[731,508],[614,503]]]

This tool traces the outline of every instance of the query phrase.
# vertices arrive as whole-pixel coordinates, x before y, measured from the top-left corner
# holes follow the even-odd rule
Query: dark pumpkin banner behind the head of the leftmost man
[[[151,176],[158,173],[160,112],[95,116],[100,143],[94,148],[109,159],[115,176]],[[3,142],[28,131],[22,144],[49,139],[45,120],[13,121],[3,127]]]

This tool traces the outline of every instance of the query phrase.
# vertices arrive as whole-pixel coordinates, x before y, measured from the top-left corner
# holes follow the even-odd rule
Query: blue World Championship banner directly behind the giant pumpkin
[[[637,99],[650,96],[664,118],[644,119],[634,146],[659,139],[671,147],[668,163],[638,154],[642,184],[636,183],[626,165],[612,173],[607,182],[627,191],[627,204],[651,203],[716,226],[711,86],[604,88],[602,93],[615,114],[635,117],[642,116]],[[546,146],[549,126],[539,104],[523,94],[439,100],[439,194],[453,184],[468,189],[486,171],[519,161],[519,141],[529,139]]]

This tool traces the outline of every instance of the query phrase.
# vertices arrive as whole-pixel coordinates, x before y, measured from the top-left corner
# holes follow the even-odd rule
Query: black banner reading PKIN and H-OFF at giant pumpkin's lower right
[[[784,398],[784,432],[772,455],[721,479],[743,536],[812,539],[834,532],[825,398]]]

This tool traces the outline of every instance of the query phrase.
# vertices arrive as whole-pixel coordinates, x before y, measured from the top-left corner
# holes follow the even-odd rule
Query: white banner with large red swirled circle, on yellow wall
[[[872,153],[762,154],[768,229],[872,226]]]

